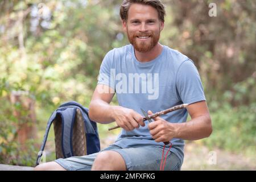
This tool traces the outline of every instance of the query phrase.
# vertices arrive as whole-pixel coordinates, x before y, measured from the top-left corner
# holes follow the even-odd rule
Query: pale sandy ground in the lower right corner
[[[188,143],[181,170],[256,170],[256,159]]]

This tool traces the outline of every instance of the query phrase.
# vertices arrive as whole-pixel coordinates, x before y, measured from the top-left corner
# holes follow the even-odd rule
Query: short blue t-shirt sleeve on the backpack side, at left
[[[100,67],[100,73],[98,75],[97,84],[103,84],[110,86],[113,90],[115,90],[115,80],[114,80],[114,68],[113,68],[113,56],[112,51],[108,52]]]

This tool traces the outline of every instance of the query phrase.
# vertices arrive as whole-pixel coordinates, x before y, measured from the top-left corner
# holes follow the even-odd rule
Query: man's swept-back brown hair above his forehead
[[[149,5],[154,7],[156,11],[158,11],[158,18],[164,22],[164,16],[166,15],[166,10],[164,9],[164,5],[160,0],[124,0],[120,7],[120,17],[123,21],[127,21],[128,11],[130,6],[134,3],[138,3],[141,5]]]

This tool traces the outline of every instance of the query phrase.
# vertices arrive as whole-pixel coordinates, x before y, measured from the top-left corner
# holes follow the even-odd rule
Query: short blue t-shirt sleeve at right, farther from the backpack
[[[177,71],[176,89],[178,97],[184,104],[206,100],[199,72],[191,60],[186,60],[180,65]]]

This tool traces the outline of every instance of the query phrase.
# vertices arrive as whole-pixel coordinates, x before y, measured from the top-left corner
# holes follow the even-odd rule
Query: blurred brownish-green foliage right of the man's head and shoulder
[[[216,3],[216,17],[208,16],[209,3]],[[166,4],[163,43],[195,62],[208,102],[223,101],[225,92],[232,93],[228,102],[233,106],[255,102],[255,84],[246,81],[256,80],[255,1],[172,0]],[[242,97],[237,91],[243,92]]]

